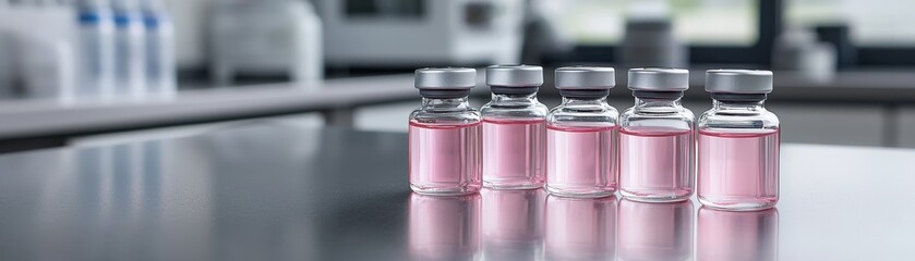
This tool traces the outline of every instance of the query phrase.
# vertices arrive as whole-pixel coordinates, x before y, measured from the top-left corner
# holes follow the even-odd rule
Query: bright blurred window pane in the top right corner
[[[845,23],[859,46],[915,45],[915,1],[787,0],[787,24],[816,26]]]

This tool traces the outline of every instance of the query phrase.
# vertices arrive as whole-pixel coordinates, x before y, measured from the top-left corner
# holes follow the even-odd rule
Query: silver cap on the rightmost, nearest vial
[[[772,92],[772,72],[719,69],[706,71],[706,91],[762,95]]]

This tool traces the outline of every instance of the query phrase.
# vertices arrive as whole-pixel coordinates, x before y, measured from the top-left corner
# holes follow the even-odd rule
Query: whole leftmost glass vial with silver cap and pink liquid
[[[410,188],[425,195],[480,190],[480,112],[467,96],[477,85],[473,69],[420,69],[416,87],[422,105],[410,114]]]

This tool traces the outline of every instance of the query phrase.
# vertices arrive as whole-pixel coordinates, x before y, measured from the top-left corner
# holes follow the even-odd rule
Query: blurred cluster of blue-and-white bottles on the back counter
[[[160,0],[80,0],[76,100],[176,91],[174,28]]]

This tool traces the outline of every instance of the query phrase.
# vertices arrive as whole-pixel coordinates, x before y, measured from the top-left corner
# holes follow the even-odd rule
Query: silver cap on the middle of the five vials
[[[616,71],[613,67],[556,69],[556,89],[612,89],[614,86]]]

